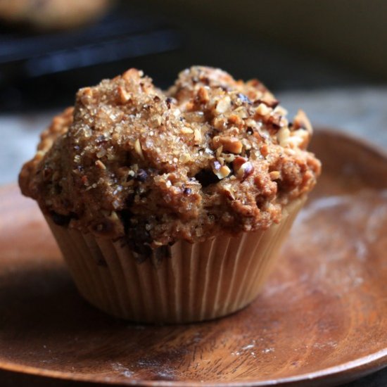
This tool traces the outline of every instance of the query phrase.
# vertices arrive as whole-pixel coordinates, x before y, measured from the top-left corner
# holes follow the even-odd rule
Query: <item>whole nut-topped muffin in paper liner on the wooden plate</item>
[[[19,183],[84,298],[137,322],[227,315],[258,294],[315,186],[312,127],[258,80],[130,69],[77,92]]]

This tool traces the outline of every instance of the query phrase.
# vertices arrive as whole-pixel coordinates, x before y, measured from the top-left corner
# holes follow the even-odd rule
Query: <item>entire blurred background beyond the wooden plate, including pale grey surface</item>
[[[77,89],[131,67],[162,88],[191,65],[258,77],[291,114],[387,149],[386,48],[386,0],[0,0],[0,184]]]

